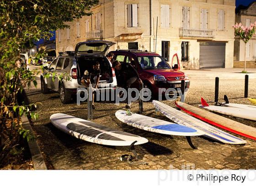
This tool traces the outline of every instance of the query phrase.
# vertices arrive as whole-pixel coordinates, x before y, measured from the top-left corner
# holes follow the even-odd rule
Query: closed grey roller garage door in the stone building
[[[200,42],[200,69],[225,68],[225,42]]]

